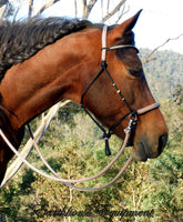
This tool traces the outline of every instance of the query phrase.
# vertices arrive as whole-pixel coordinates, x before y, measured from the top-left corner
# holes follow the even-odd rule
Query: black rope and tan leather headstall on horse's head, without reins
[[[139,50],[132,46],[132,44],[116,44],[116,46],[112,46],[112,47],[106,47],[106,32],[108,32],[108,26],[103,27],[103,31],[102,31],[102,54],[101,54],[101,70],[100,72],[94,77],[94,79],[90,82],[90,84],[88,85],[88,88],[85,89],[85,91],[83,92],[82,97],[81,97],[81,105],[82,108],[85,110],[85,112],[89,114],[89,117],[93,120],[93,122],[103,131],[103,139],[105,140],[105,154],[106,155],[111,155],[111,151],[110,151],[110,147],[109,147],[109,139],[111,138],[112,131],[114,128],[116,128],[121,121],[123,121],[128,115],[130,117],[130,125],[132,125],[133,128],[135,127],[135,124],[138,123],[138,117],[140,114],[144,114],[146,112],[150,112],[154,109],[157,109],[160,107],[160,103],[153,103],[151,105],[148,105],[145,108],[142,108],[140,110],[133,110],[130,104],[128,103],[128,101],[125,100],[125,98],[123,97],[123,94],[121,93],[120,89],[116,87],[115,82],[113,81],[111,74],[108,71],[108,63],[106,63],[106,52],[108,51],[112,51],[112,50],[116,50],[116,49],[135,49],[136,52],[139,52]],[[105,72],[110,82],[112,83],[112,87],[115,89],[116,93],[120,95],[122,102],[124,102],[124,104],[126,105],[126,108],[129,109],[129,112],[125,113],[123,117],[121,117],[119,120],[116,120],[108,130],[103,128],[103,125],[101,125],[94,118],[93,115],[87,110],[87,108],[84,107],[84,97],[87,94],[87,92],[89,91],[89,89],[94,84],[94,82],[98,80],[98,78]]]

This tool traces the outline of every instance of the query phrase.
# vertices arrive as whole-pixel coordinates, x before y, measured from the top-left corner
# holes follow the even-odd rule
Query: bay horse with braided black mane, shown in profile
[[[101,41],[104,26],[87,20],[1,21],[0,129],[16,149],[23,139],[24,125],[65,99],[83,103],[96,120],[106,128],[113,125],[112,133],[124,139],[129,109],[136,115],[135,110],[154,103],[134,47],[132,29],[140,12],[108,27],[105,48]],[[103,71],[95,78],[101,70],[101,48],[108,52],[108,65],[104,61],[102,69],[108,67],[112,84]],[[131,140],[132,157],[139,161],[157,158],[166,140],[160,109],[139,115]],[[0,138],[0,182],[12,155]]]

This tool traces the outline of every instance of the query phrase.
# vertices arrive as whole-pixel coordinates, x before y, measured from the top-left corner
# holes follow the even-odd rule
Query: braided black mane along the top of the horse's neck
[[[0,81],[13,64],[34,56],[62,37],[93,24],[87,20],[32,18],[29,21],[0,22]]]

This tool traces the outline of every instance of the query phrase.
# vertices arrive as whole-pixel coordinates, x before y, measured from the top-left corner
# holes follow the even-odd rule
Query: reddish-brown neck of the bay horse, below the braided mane
[[[81,102],[84,73],[90,73],[93,64],[84,51],[78,50],[63,38],[8,70],[0,93],[13,130],[62,99]]]

